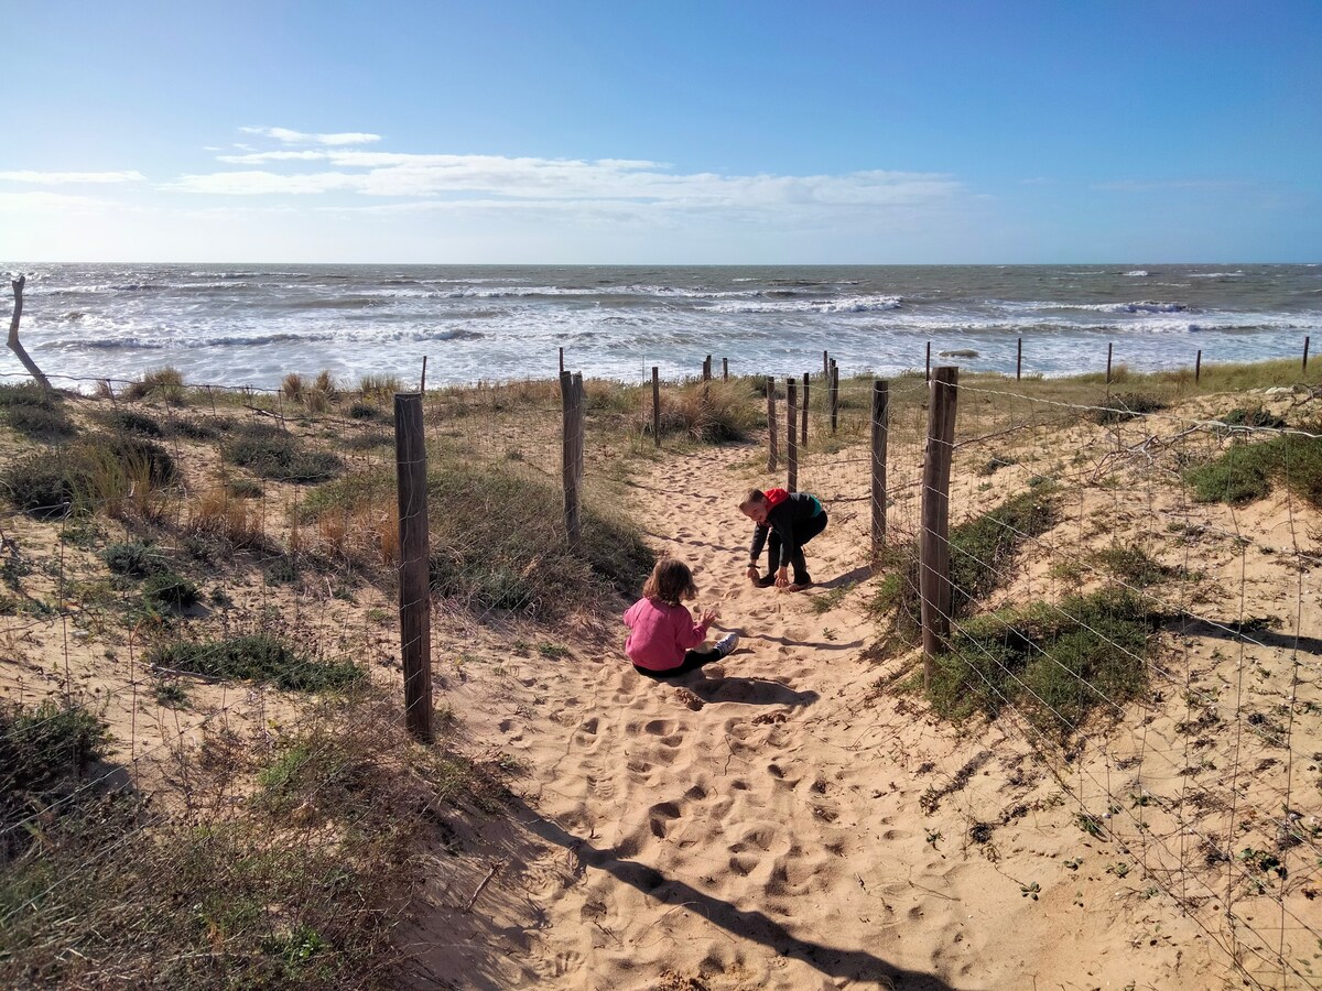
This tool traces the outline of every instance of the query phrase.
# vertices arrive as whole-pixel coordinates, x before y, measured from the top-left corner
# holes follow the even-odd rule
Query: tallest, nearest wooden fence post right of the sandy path
[[[951,460],[960,370],[945,365],[932,379],[923,456],[923,530],[919,596],[923,616],[923,690],[932,687],[933,658],[951,636]]]

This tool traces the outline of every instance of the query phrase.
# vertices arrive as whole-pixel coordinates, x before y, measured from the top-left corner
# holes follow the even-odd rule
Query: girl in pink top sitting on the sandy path
[[[697,595],[687,564],[674,558],[657,562],[642,585],[642,599],[624,613],[624,625],[629,628],[624,654],[639,674],[674,678],[719,661],[735,649],[738,633],[727,633],[711,650],[695,649],[717,618],[715,609],[707,609],[699,622],[693,621],[693,613],[681,600]]]

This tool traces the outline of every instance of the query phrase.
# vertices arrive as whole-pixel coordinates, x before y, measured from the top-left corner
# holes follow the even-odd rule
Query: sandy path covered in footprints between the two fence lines
[[[887,691],[862,657],[863,466],[822,465],[833,515],[810,544],[818,588],[743,580],[735,505],[769,484],[748,452],[664,461],[633,509],[687,560],[722,665],[680,687],[640,678],[623,628],[464,684],[469,741],[526,768],[514,827],[440,863],[438,912],[411,937],[422,986],[473,988],[1014,988],[1220,986],[1215,947],[1112,844],[1022,736],[960,736]],[[806,488],[806,486],[805,486]],[[833,497],[841,495],[837,502]],[[865,587],[870,588],[870,585]],[[472,912],[456,912],[497,871]],[[485,949],[481,945],[485,943]],[[1136,982],[1130,984],[1130,982]]]

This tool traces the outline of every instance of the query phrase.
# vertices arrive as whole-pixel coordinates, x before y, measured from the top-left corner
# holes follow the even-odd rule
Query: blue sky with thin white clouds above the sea
[[[1322,0],[0,0],[0,259],[1322,262]]]

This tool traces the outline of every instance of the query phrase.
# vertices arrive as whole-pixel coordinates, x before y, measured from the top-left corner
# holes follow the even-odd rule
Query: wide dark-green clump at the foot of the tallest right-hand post
[[[965,620],[936,658],[928,698],[956,721],[1014,707],[1040,732],[1066,737],[1093,710],[1142,691],[1159,620],[1116,588]]]

